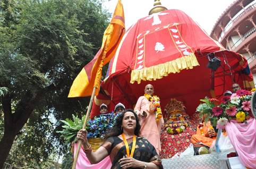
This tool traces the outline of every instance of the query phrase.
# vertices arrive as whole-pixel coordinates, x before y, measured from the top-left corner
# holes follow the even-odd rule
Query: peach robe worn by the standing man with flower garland
[[[147,112],[148,116],[146,118],[140,118],[139,116],[141,125],[140,134],[141,137],[147,138],[149,140],[149,142],[156,148],[156,151],[159,154],[161,152],[160,132],[161,126],[164,124],[164,119],[162,117],[159,122],[156,121],[155,112],[149,112],[149,103],[150,101],[145,96],[141,96],[139,97],[134,110],[137,115],[143,111]]]

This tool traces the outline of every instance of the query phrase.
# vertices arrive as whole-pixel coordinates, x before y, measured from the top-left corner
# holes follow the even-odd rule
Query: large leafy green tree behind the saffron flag
[[[58,142],[59,138],[54,132],[59,128],[49,128],[48,115],[59,120],[85,112],[88,98],[67,99],[67,95],[76,75],[101,46],[109,18],[102,3],[0,2],[0,87],[8,91],[0,96],[0,112],[4,114],[0,147],[5,147],[0,152],[0,168],[15,139],[24,142],[15,144],[24,154],[33,152],[35,162],[44,161],[58,145],[53,140]],[[45,154],[37,153],[37,146]],[[59,146],[58,151],[65,152],[65,147]]]

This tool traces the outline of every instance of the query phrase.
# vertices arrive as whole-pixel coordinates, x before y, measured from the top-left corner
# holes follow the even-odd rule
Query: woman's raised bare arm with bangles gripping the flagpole
[[[76,138],[82,141],[83,151],[86,153],[87,158],[89,159],[91,164],[99,163],[101,160],[108,156],[108,151],[105,147],[100,146],[96,152],[92,152],[91,145],[87,140],[87,130],[81,129],[79,130]]]

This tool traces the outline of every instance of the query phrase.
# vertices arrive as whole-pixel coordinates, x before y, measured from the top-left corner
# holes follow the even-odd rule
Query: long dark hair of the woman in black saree
[[[126,112],[132,112],[133,115],[135,116],[136,119],[136,127],[134,130],[134,134],[136,136],[140,136],[140,123],[139,123],[139,118],[138,116],[135,114],[135,112],[132,109],[126,109],[124,112],[121,112],[121,115],[118,115],[118,117],[116,118],[116,123],[114,125],[114,127],[112,128],[112,130],[110,130],[109,134],[106,136],[106,138],[109,137],[113,137],[113,136],[119,136],[123,133],[123,118]]]

